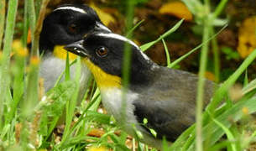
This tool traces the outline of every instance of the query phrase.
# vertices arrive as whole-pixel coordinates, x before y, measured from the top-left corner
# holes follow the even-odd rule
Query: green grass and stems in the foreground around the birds
[[[3,40],[3,53],[0,52],[0,150],[29,150],[29,149],[51,149],[51,150],[79,150],[89,146],[104,146],[113,150],[130,150],[126,146],[127,134],[118,133],[119,127],[115,120],[106,114],[97,112],[100,106],[101,96],[95,84],[87,90],[85,99],[81,106],[76,107],[76,100],[79,91],[79,79],[81,74],[81,59],[74,62],[66,61],[65,81],[57,81],[55,87],[46,94],[43,91],[42,83],[39,81],[39,32],[44,18],[45,7],[49,0],[36,1],[41,6],[35,8],[34,1],[25,1],[24,7],[24,35],[22,43],[13,43],[13,29],[15,27],[15,18],[18,8],[18,1],[8,1],[7,18],[0,18],[0,48]],[[188,55],[201,49],[200,60],[200,81],[198,84],[198,94],[196,102],[196,123],[188,128],[180,137],[168,147],[165,143],[164,150],[219,150],[226,148],[230,150],[242,150],[248,148],[253,143],[256,136],[256,130],[251,128],[252,132],[244,135],[248,127],[252,126],[250,114],[256,112],[256,99],[253,96],[256,93],[255,80],[248,83],[244,78],[242,94],[237,102],[232,102],[228,96],[229,89],[235,84],[239,76],[242,76],[248,66],[256,58],[256,49],[248,56],[238,69],[217,89],[212,98],[212,102],[202,110],[203,101],[203,76],[206,71],[206,62],[210,44],[214,51],[215,73],[219,77],[220,65],[219,55],[217,52],[216,35],[225,29],[224,26],[220,31],[215,33],[215,25],[218,16],[225,7],[227,0],[222,0],[215,10],[211,13],[209,1],[204,3],[198,0],[184,0],[191,12],[196,16],[196,23],[203,27],[202,42],[189,53],[181,56],[180,59],[170,62],[170,55],[165,44],[166,36],[175,32],[183,22],[176,23],[174,27],[159,36],[158,39],[143,44],[142,50],[149,49],[152,45],[162,41],[165,46],[165,52],[168,59],[168,67],[180,63]],[[5,1],[1,1],[0,12],[4,14]],[[133,8],[136,7],[136,1],[127,1],[127,33],[132,37],[133,30]],[[4,16],[4,15],[3,15]],[[4,23],[6,24],[3,32]],[[140,24],[140,23],[138,23]],[[29,26],[29,27],[28,27]],[[32,50],[24,48],[28,29],[32,33]],[[210,41],[212,40],[212,43]],[[13,44],[13,49],[12,49]],[[128,49],[128,48],[127,48]],[[14,55],[11,63],[11,52]],[[128,50],[126,52],[129,52]],[[125,62],[129,62],[129,54],[126,54]],[[29,59],[29,63],[25,63]],[[68,59],[68,58],[67,58]],[[76,78],[70,78],[70,66],[76,65]],[[123,78],[128,86],[129,64],[124,64]],[[218,79],[218,78],[217,78]],[[11,94],[10,90],[13,90]],[[223,103],[225,99],[226,102]],[[90,102],[87,102],[90,101]],[[220,104],[223,103],[222,106]],[[123,103],[124,104],[124,103]],[[123,106],[125,107],[125,105]],[[65,109],[65,128],[63,129],[62,138],[55,133],[57,122]],[[76,114],[80,116],[76,117]],[[228,119],[232,119],[228,121]],[[238,128],[236,122],[243,122],[243,127]],[[92,137],[91,130],[102,128],[105,133],[101,137]],[[241,130],[240,130],[241,129]],[[135,131],[137,131],[135,129]],[[242,132],[241,132],[242,131]],[[222,138],[226,134],[227,138]],[[138,132],[137,138],[140,133]],[[239,138],[246,137],[242,140]],[[221,139],[222,138],[222,139]],[[224,140],[223,140],[224,139]],[[133,139],[133,149],[138,143],[138,150],[156,150],[148,148],[143,143]]]

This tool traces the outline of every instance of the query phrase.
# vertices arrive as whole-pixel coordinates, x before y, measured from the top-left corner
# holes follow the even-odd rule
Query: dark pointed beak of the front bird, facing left
[[[80,55],[81,57],[87,57],[87,50],[84,48],[84,40],[76,41],[75,43],[65,45],[64,49],[70,51],[73,54]]]

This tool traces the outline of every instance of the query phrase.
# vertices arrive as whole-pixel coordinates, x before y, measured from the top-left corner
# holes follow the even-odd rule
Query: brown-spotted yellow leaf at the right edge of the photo
[[[256,16],[246,18],[238,32],[238,53],[243,58],[256,49]]]

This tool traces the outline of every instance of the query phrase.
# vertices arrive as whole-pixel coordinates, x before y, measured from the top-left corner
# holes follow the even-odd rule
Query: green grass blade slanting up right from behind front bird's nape
[[[165,39],[166,36],[174,33],[181,25],[181,23],[183,22],[184,19],[181,19],[178,23],[175,24],[174,27],[172,27],[170,30],[168,30],[167,32],[165,32],[165,34],[162,34],[159,36],[158,39],[154,40],[154,41],[151,41],[147,44],[143,44],[142,46],[140,46],[140,49],[142,51],[145,51],[147,49],[149,49],[151,46],[153,46],[154,44],[158,43],[161,39]]]

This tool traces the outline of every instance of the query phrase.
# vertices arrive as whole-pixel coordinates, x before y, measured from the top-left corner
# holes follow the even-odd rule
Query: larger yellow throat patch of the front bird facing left
[[[83,62],[88,66],[91,70],[92,75],[94,76],[97,86],[101,89],[111,88],[111,87],[121,87],[121,78],[118,76],[112,76],[107,74],[104,70],[102,70],[97,65],[93,64],[89,59],[83,59]]]

